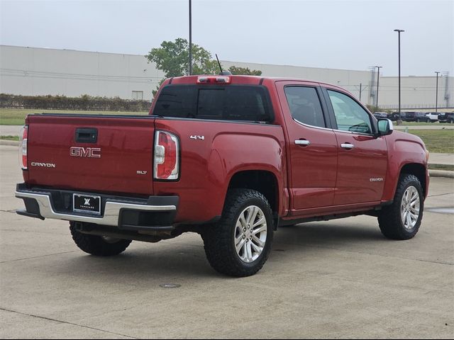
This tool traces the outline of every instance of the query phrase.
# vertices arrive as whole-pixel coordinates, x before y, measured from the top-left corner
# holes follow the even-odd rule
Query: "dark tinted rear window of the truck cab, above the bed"
[[[262,86],[170,85],[162,89],[154,115],[213,120],[274,120]]]

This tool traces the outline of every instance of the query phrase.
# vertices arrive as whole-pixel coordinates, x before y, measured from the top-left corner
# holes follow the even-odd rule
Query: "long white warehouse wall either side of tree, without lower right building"
[[[370,72],[345,69],[321,69],[270,64],[222,61],[232,65],[260,69],[265,77],[293,77],[324,81],[344,87],[369,103]],[[143,91],[150,100],[164,73],[148,64],[142,55],[120,55],[75,50],[0,45],[0,92],[6,94],[65,96],[106,96],[133,98]]]

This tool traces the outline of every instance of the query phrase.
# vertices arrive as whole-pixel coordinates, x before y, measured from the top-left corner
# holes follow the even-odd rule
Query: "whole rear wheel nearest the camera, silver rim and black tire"
[[[272,210],[265,196],[251,189],[228,192],[221,221],[202,232],[206,258],[219,273],[251,276],[270,254]]]

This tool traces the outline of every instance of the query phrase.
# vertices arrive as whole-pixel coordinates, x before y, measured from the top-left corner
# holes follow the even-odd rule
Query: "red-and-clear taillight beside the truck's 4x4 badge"
[[[178,138],[170,132],[155,132],[155,179],[178,179]]]

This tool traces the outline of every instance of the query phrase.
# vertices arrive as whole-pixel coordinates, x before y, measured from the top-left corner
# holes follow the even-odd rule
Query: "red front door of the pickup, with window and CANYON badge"
[[[338,176],[334,205],[375,202],[382,199],[387,171],[387,143],[375,137],[372,115],[349,94],[323,89],[338,149]]]

